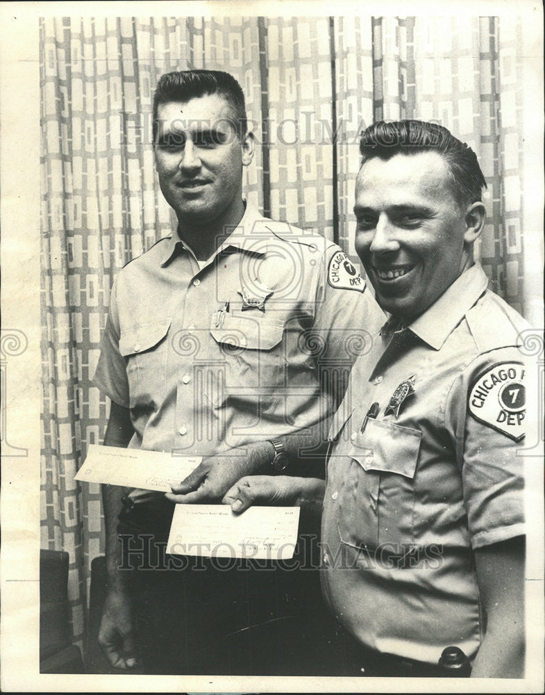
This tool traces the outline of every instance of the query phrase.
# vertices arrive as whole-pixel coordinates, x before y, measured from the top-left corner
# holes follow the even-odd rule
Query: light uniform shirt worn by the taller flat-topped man
[[[213,455],[334,412],[383,321],[337,245],[246,206],[202,268],[174,234],[119,272],[94,384],[130,447]]]

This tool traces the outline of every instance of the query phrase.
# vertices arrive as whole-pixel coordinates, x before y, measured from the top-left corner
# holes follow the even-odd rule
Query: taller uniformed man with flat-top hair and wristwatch
[[[153,120],[178,227],[117,275],[94,383],[112,402],[106,445],[203,461],[166,497],[104,486],[99,642],[119,669],[140,655],[149,673],[320,673],[296,573],[176,564],[165,543],[174,503],[219,502],[243,475],[285,467],[285,436],[335,411],[383,313],[337,245],[244,202],[254,139],[232,76],[162,76]]]

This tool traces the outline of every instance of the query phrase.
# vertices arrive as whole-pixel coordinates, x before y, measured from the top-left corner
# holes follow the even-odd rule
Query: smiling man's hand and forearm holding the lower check
[[[233,485],[221,502],[231,505],[237,514],[251,505],[298,506],[319,513],[324,500],[324,487],[324,481],[319,478],[250,475]]]

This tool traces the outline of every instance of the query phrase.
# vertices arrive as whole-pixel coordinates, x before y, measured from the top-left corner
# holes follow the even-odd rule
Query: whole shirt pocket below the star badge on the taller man
[[[285,386],[284,322],[228,313],[221,326],[216,322],[214,314],[210,364],[215,364],[215,378],[208,386],[208,398],[217,406],[230,400],[258,405],[260,411],[269,409],[279,398],[278,389]]]

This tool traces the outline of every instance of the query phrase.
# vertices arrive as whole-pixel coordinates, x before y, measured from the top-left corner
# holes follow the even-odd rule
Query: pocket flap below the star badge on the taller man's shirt
[[[272,350],[282,340],[283,321],[255,316],[244,318],[226,313],[221,327],[216,327],[217,313],[212,314],[210,333],[217,343],[247,350]]]

